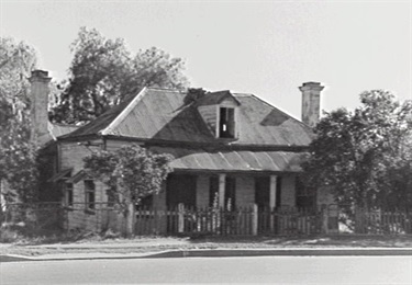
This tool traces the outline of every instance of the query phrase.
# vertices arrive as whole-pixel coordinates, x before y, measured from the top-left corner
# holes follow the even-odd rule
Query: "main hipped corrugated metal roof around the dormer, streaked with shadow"
[[[216,93],[219,102],[227,91]],[[252,94],[230,94],[238,103],[238,139],[232,145],[308,146],[310,127]],[[175,142],[220,144],[209,132],[196,104],[187,104],[187,93],[174,90],[142,90],[90,124],[62,138],[80,139],[99,135],[118,138]]]

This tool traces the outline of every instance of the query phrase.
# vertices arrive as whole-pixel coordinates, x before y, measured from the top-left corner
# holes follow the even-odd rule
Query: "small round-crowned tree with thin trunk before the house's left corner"
[[[115,151],[94,150],[83,159],[87,172],[107,184],[108,195],[125,206],[129,235],[134,232],[134,205],[162,190],[162,183],[171,172],[171,160],[170,155],[154,153],[137,145]]]

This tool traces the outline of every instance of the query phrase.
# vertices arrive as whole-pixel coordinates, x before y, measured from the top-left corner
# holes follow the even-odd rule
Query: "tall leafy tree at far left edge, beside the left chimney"
[[[29,80],[36,67],[33,47],[0,38],[0,181],[21,202],[36,200],[37,151],[30,142]]]

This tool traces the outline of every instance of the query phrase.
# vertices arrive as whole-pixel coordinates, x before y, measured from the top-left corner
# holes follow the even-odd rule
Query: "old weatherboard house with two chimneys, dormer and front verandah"
[[[48,122],[49,80],[46,71],[32,72],[33,139],[47,149],[45,183],[59,189],[67,208],[83,207],[69,212],[71,228],[109,227],[108,218],[94,210],[96,203],[110,203],[108,186],[87,176],[83,157],[92,149],[130,144],[175,158],[163,191],[145,201],[157,210],[179,204],[205,208],[216,196],[223,207],[229,202],[232,207],[271,208],[327,203],[327,195],[305,193],[297,179],[319,119],[323,87],[318,82],[299,88],[302,122],[253,94],[218,91],[188,101],[187,92],[144,88],[76,127]]]

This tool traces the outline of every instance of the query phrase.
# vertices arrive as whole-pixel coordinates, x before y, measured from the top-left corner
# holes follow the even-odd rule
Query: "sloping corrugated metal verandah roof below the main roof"
[[[170,166],[175,170],[220,172],[300,172],[302,152],[205,150],[153,147],[159,153],[175,157]]]

